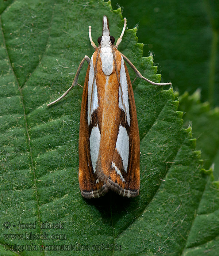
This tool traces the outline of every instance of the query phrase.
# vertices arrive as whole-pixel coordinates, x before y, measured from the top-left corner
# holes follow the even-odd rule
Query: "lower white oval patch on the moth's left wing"
[[[91,162],[93,166],[93,173],[96,171],[96,162],[100,148],[100,130],[98,126],[93,127],[90,136],[90,151],[91,151]]]

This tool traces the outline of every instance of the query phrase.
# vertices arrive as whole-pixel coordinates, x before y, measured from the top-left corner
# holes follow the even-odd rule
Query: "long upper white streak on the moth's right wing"
[[[122,57],[122,56],[121,56]],[[122,63],[121,63],[121,69],[120,69],[120,83],[122,86],[122,92],[121,88],[119,87],[119,107],[125,112],[124,106],[126,108],[126,118],[128,125],[130,126],[130,115],[129,115],[129,105],[128,105],[128,83],[127,83],[127,77],[126,77],[126,70],[124,66],[124,60],[122,57]],[[123,98],[122,98],[123,94]],[[123,104],[122,104],[122,99],[123,99]]]

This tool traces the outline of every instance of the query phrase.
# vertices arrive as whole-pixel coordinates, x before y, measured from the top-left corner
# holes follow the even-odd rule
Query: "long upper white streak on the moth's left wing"
[[[91,67],[90,67],[89,79],[88,79],[88,124],[90,124],[90,122],[91,122],[91,115],[92,115],[92,113],[98,107],[96,79],[94,79],[94,83],[93,83],[93,76],[94,76],[93,55],[91,57],[90,65],[91,65]],[[91,106],[91,101],[92,101],[92,99],[91,99],[92,84],[93,84],[93,95],[92,95],[92,97],[93,97],[93,104]]]

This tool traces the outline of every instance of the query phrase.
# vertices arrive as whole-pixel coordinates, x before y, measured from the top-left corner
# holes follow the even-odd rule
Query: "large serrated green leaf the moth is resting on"
[[[141,190],[134,199],[108,193],[86,200],[80,195],[82,89],[75,87],[61,102],[46,106],[69,88],[84,55],[92,55],[88,25],[96,41],[102,17],[107,15],[111,34],[119,37],[122,15],[120,9],[110,9],[110,2],[101,0],[55,4],[25,0],[14,1],[1,15],[3,255],[4,245],[11,246],[8,255],[42,255],[39,250],[44,245],[44,255],[65,256],[180,255],[185,248],[208,176],[201,172],[203,161],[195,150],[191,128],[183,128],[183,112],[177,111],[173,89],[162,90],[140,79],[133,84],[141,139]],[[143,45],[137,43],[136,31],[126,31],[120,50],[144,76],[159,82],[153,57],[142,58]],[[83,67],[80,84],[85,72]],[[134,79],[133,71],[130,75]],[[59,222],[63,228],[43,228]],[[42,237],[30,239],[36,234]],[[47,240],[51,235],[59,237]],[[74,247],[64,247],[70,245]]]

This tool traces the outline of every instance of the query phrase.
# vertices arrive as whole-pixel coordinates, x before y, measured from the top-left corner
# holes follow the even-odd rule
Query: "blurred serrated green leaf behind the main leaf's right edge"
[[[200,102],[200,90],[191,96],[185,92],[179,97],[179,109],[184,112],[185,127],[192,121],[192,133],[201,150],[204,167],[210,168],[219,157],[219,108],[211,109],[208,102]],[[219,178],[219,165],[215,165],[214,176]]]

